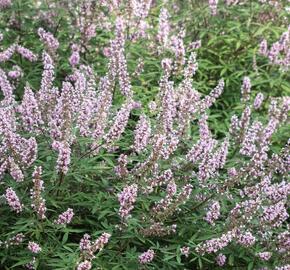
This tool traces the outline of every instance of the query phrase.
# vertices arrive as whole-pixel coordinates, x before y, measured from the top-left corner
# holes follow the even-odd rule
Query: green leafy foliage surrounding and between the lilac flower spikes
[[[69,62],[72,44],[81,46],[80,64],[92,67],[97,85],[100,78],[106,75],[110,58],[105,56],[104,49],[110,46],[110,41],[115,37],[116,18],[126,16],[129,6],[127,2],[130,1],[123,1],[124,3],[117,11],[109,11],[106,6],[99,8],[97,5],[97,8],[93,10],[95,13],[89,17],[97,24],[96,35],[89,41],[83,39],[81,31],[75,26],[75,20],[80,16],[76,11],[80,9],[81,12],[80,7],[85,4],[84,2],[90,1],[13,0],[7,8],[0,9],[0,32],[4,36],[0,43],[1,51],[15,43],[29,48],[38,56],[38,60],[31,63],[19,54],[14,54],[8,61],[0,63],[1,68],[6,72],[10,71],[14,65],[22,69],[22,77],[17,80],[11,79],[11,84],[15,86],[14,94],[17,102],[23,99],[27,82],[35,93],[41,87],[43,72],[41,55],[47,48],[37,34],[40,27],[52,33],[60,44],[53,58],[55,86],[61,88],[62,82],[75,70]],[[196,252],[196,247],[203,241],[218,237],[227,230],[230,223],[227,219],[229,209],[235,206],[236,197],[234,195],[232,199],[228,196],[229,194],[219,197],[221,217],[215,226],[211,226],[204,220],[207,211],[206,202],[200,203],[196,199],[202,189],[198,187],[197,179],[192,176],[195,168],[176,166],[176,169],[172,165],[183,161],[192,142],[199,139],[199,117],[192,120],[192,125],[187,130],[186,135],[190,140],[182,141],[182,145],[170,158],[170,162],[161,160],[158,163],[161,172],[166,169],[175,169],[174,177],[179,191],[186,183],[193,185],[190,199],[180,206],[180,211],[162,220],[165,226],[176,224],[176,233],[152,237],[141,233],[142,229],[150,224],[148,217],[154,202],[165,197],[166,188],[164,187],[150,195],[138,194],[132,217],[126,221],[126,225],[121,223],[118,215],[120,207],[118,194],[126,185],[132,184],[133,180],[130,175],[124,178],[118,177],[115,168],[120,154],[130,157],[127,168],[132,170],[136,164],[146,159],[154,147],[149,145],[147,151],[136,154],[131,145],[141,114],[145,113],[150,118],[152,129],[158,129],[158,121],[160,121],[157,118],[158,113],[152,111],[148,105],[154,100],[157,106],[161,107],[159,103],[160,79],[164,74],[161,62],[164,58],[174,59],[175,57],[174,53],[168,49],[158,51],[156,45],[159,14],[162,8],[166,8],[170,14],[171,35],[179,35],[183,29],[185,30],[183,41],[186,47],[186,59],[193,51],[197,53],[198,70],[192,87],[201,95],[206,96],[218,84],[218,81],[224,78],[224,91],[208,113],[208,124],[213,137],[223,140],[228,134],[232,116],[234,114],[240,116],[246,107],[246,103],[241,102],[241,86],[245,76],[251,79],[252,84],[250,103],[259,92],[265,97],[261,108],[253,112],[253,117],[263,124],[268,121],[271,97],[281,98],[289,95],[289,71],[271,63],[267,57],[259,53],[262,40],[266,39],[270,46],[279,40],[285,31],[289,31],[289,1],[232,2],[237,3],[227,4],[226,1],[220,1],[217,15],[213,16],[207,1],[152,1],[147,17],[147,21],[150,22],[148,29],[150,37],[132,42],[129,38],[130,28],[127,29],[125,56],[131,75],[133,97],[141,103],[141,107],[132,110],[126,130],[115,144],[118,147],[115,151],[101,148],[95,155],[86,154],[89,149],[87,145],[91,143],[91,140],[78,136],[76,132],[77,143],[72,146],[70,169],[65,176],[55,170],[58,153],[51,148],[52,139],[48,134],[38,135],[38,156],[33,166],[25,171],[23,182],[18,183],[9,173],[5,173],[0,182],[0,194],[4,194],[7,187],[12,187],[24,204],[25,211],[21,214],[11,212],[4,196],[1,197],[1,269],[24,269],[25,265],[31,262],[33,256],[27,249],[28,241],[35,241],[42,247],[42,251],[35,255],[35,269],[75,269],[80,260],[79,242],[83,235],[88,233],[92,239],[96,239],[103,232],[110,233],[112,236],[104,249],[96,254],[92,269],[219,268],[215,261],[216,254],[202,255]],[[101,14],[106,18],[105,22],[109,25],[107,28],[103,25],[104,18]],[[86,14],[82,16],[86,17]],[[190,44],[198,40],[201,41],[201,46],[195,50]],[[144,64],[144,70],[136,76],[134,72],[139,59]],[[177,69],[171,75],[170,80],[175,84],[182,82],[182,70],[182,68]],[[113,106],[110,109],[108,120],[110,124],[107,130],[113,123],[113,116],[125,100],[126,97],[117,86],[113,94]],[[27,132],[19,130],[21,136],[26,138],[30,136]],[[285,124],[275,132],[269,151],[271,154],[279,153],[285,146],[289,131],[289,125]],[[227,169],[233,166],[238,169],[248,160],[249,158],[244,158],[237,153],[235,147],[231,148],[228,161],[225,168],[221,170],[219,179],[228,177]],[[45,186],[43,196],[47,207],[47,218],[44,220],[39,220],[30,207],[29,192],[33,185],[34,166],[42,166],[43,171],[42,179]],[[152,176],[152,172],[144,178],[150,175]],[[284,175],[275,177],[275,181],[286,179],[287,182]],[[140,183],[139,185],[142,186]],[[234,191],[231,191],[232,194],[238,194],[240,188],[240,186],[235,187]],[[286,206],[289,206],[289,200]],[[75,213],[72,222],[66,226],[55,225],[53,220],[68,208],[73,208]],[[287,231],[289,219],[283,223],[282,228]],[[23,233],[25,240],[20,245],[5,247],[4,242],[7,243],[18,233]],[[190,248],[188,257],[180,251],[180,248],[184,246]],[[140,265],[138,256],[148,249],[154,250],[154,260],[146,265]],[[287,254],[283,258],[275,254],[270,261],[263,261],[255,256],[264,250],[265,247],[261,244],[244,247],[234,243],[222,251],[227,261],[221,268],[251,270],[268,267],[264,269],[275,269],[289,263]],[[287,252],[289,254],[289,250]]]

